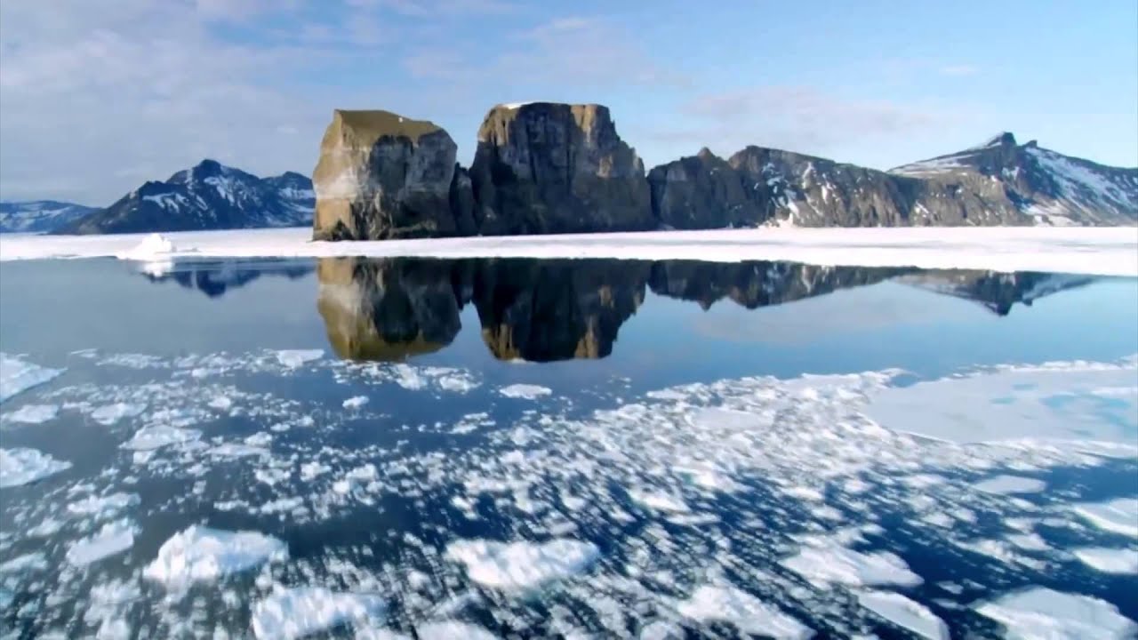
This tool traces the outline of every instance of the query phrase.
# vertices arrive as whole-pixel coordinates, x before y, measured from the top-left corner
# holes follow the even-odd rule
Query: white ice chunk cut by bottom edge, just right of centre
[[[676,610],[694,621],[728,622],[744,633],[777,640],[805,640],[814,635],[802,623],[732,585],[704,584],[676,605]]]

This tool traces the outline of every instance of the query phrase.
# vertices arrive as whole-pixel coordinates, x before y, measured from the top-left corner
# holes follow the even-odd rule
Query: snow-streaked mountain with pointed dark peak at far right
[[[1012,206],[1036,224],[1133,224],[1138,222],[1138,169],[1106,166],[1016,143],[1000,133],[959,153],[891,170],[963,188],[981,186],[1000,206]]]

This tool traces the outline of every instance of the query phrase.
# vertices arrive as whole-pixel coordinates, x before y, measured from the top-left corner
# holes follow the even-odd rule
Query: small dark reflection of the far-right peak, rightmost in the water
[[[898,281],[937,292],[939,294],[973,300],[993,313],[1007,315],[1012,305],[1031,303],[1065,289],[1082,287],[1095,281],[1088,276],[1066,273],[1037,273],[1021,271],[999,273],[996,271],[920,271]]]

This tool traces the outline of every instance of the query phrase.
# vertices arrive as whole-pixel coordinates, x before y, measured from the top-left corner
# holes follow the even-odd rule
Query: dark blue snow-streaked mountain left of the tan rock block
[[[165,182],[148,181],[57,233],[134,233],[303,227],[312,223],[312,180],[287,172],[257,178],[205,159]]]

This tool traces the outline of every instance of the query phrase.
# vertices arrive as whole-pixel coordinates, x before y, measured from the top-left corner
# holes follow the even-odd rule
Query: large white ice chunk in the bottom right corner
[[[1138,625],[1110,602],[1041,586],[1006,594],[976,610],[1003,624],[1005,637],[1013,640],[1113,640],[1138,632]]]

